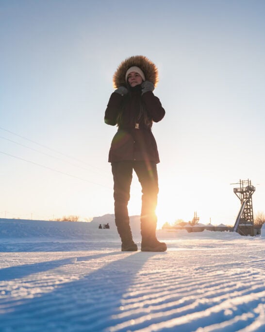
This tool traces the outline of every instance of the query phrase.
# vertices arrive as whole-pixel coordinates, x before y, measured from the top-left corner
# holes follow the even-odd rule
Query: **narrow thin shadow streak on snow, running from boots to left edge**
[[[76,257],[77,262],[78,261],[90,261],[93,259],[98,259],[102,257],[107,256],[113,256],[120,254],[120,251],[114,251],[110,253],[102,253],[98,255],[88,255],[83,257]],[[48,271],[50,269],[54,269],[66,264],[70,264],[73,262],[75,258],[69,257],[69,258],[63,258],[60,260],[54,260],[54,261],[46,261],[46,262],[38,262],[33,264],[23,264],[18,266],[11,266],[11,267],[5,267],[3,269],[0,269],[0,281],[9,281],[13,279],[19,279],[24,278],[28,275],[31,275],[33,273],[40,273],[44,271]]]

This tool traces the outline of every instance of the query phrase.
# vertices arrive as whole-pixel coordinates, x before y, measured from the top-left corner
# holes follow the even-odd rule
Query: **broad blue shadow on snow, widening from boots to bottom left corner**
[[[17,305],[12,301],[13,312],[0,315],[1,327],[17,332],[25,331],[25,326],[34,331],[95,332],[115,326],[123,321],[113,315],[121,312],[124,294],[145,262],[157,254],[161,255],[130,253],[48,294],[19,299]]]

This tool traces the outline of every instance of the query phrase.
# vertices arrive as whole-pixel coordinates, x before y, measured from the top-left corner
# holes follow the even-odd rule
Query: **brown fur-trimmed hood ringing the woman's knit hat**
[[[126,71],[133,66],[141,68],[145,74],[146,80],[152,82],[156,87],[158,83],[158,69],[155,64],[144,55],[134,55],[120,63],[113,75],[113,87],[118,88],[126,86]]]

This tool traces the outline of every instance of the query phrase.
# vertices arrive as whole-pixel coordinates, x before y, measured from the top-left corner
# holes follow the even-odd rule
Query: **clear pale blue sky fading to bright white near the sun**
[[[160,223],[197,210],[233,224],[240,178],[259,184],[265,211],[264,17],[261,0],[0,0],[0,151],[83,179],[0,154],[0,217],[113,213],[116,127],[103,116],[116,67],[136,54],[158,66],[166,109],[153,126]],[[140,213],[135,178],[129,208]]]

